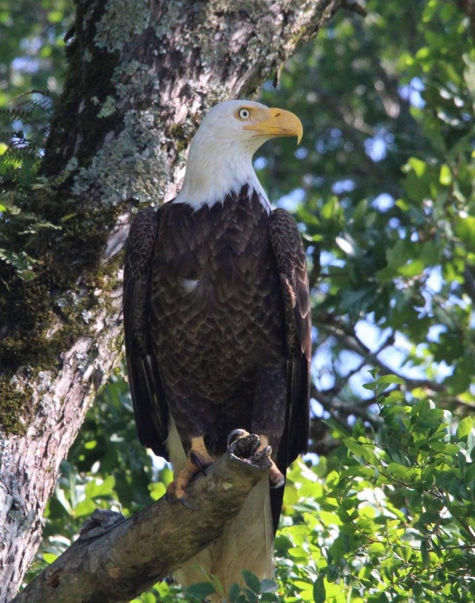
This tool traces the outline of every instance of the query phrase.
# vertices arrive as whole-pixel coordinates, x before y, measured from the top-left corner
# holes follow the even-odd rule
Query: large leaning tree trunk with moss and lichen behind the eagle
[[[87,407],[121,357],[131,209],[172,198],[213,104],[246,98],[341,0],[78,0],[42,180],[0,274],[0,602],[13,596]],[[25,234],[28,215],[49,224]]]

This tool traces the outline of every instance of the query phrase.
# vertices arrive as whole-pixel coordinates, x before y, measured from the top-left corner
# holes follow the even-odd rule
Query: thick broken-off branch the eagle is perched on
[[[243,439],[251,450],[260,443],[256,435]],[[190,485],[188,502],[194,511],[165,496],[127,520],[96,510],[74,545],[14,603],[125,603],[178,569],[218,537],[271,466],[267,457],[242,458],[236,444],[206,478]]]

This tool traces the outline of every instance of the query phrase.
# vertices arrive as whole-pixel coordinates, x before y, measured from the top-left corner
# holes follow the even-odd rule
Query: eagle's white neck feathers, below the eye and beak
[[[259,145],[260,146],[260,145]],[[229,194],[238,194],[248,185],[250,197],[257,192],[268,212],[271,204],[253,168],[256,148],[242,141],[213,137],[198,130],[193,138],[183,186],[172,203],[187,203],[195,209],[222,203]]]

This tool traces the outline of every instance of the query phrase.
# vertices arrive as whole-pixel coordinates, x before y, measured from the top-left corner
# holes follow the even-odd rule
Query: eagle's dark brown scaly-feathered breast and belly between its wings
[[[286,407],[282,293],[268,212],[245,188],[197,211],[159,212],[150,286],[153,350],[186,449],[221,454],[236,427],[277,450]],[[190,421],[192,417],[192,421]]]

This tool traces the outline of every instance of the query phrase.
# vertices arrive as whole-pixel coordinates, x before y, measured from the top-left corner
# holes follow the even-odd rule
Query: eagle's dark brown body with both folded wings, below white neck
[[[142,444],[168,458],[242,428],[268,437],[278,469],[306,451],[310,305],[300,234],[244,186],[223,203],[166,203],[133,221],[124,269],[128,377]],[[170,417],[171,415],[171,417]],[[277,525],[282,489],[271,497]]]

